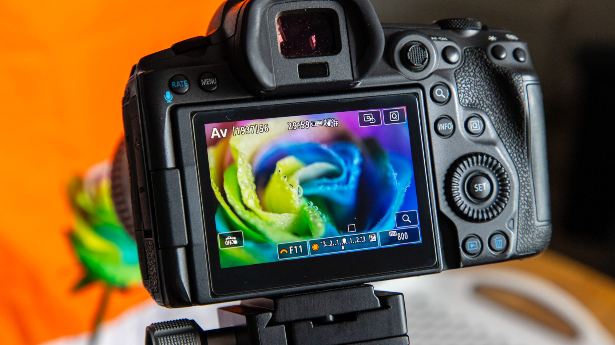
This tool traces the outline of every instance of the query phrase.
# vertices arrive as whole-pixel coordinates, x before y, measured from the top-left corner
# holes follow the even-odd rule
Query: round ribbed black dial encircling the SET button
[[[486,153],[470,153],[448,169],[446,200],[459,217],[486,222],[497,217],[510,197],[510,180],[498,160]]]

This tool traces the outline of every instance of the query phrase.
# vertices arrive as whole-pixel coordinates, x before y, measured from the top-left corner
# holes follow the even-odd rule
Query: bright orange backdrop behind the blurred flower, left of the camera
[[[113,153],[131,66],[205,34],[221,2],[0,0],[2,343],[90,330],[103,289],[71,291],[66,183]],[[114,292],[105,319],[148,298]]]

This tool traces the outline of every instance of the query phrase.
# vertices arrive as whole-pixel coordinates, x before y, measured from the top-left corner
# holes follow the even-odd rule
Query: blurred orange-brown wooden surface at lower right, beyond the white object
[[[521,269],[559,285],[581,301],[615,335],[615,279],[612,277],[552,250],[539,257],[485,267]]]

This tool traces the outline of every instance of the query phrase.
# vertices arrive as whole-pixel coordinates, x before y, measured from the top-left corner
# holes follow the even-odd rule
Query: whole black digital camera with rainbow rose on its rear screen
[[[130,205],[143,284],[167,307],[438,273],[550,241],[539,79],[525,42],[478,20],[229,0],[207,35],[141,58],[122,107],[114,176],[129,187],[114,201]]]

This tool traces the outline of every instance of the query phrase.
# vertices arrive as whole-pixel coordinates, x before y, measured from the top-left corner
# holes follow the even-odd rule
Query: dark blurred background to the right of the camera
[[[470,17],[528,42],[544,94],[550,248],[615,276],[615,1],[371,2],[383,23]]]

